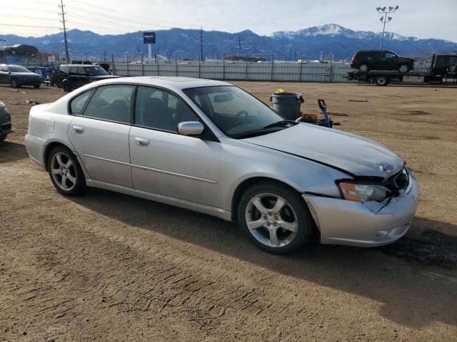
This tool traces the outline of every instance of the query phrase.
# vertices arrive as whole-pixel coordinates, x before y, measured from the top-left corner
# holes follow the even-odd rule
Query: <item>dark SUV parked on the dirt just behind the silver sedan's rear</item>
[[[60,66],[59,81],[65,91],[71,91],[87,83],[106,80],[106,78],[119,78],[110,75],[101,66],[89,64],[67,64]]]

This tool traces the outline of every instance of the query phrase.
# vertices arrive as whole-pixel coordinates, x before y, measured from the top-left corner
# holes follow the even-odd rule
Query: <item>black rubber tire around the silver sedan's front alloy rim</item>
[[[249,210],[248,204],[250,203],[251,199],[253,199],[257,195],[263,194],[272,194],[277,195],[278,197],[282,197],[282,199],[286,200],[287,202],[286,207],[290,206],[291,209],[293,209],[293,212],[295,213],[296,221],[298,223],[296,235],[295,237],[293,237],[291,242],[288,242],[288,244],[286,244],[285,246],[268,246],[267,244],[260,242],[256,237],[254,237],[251,233],[251,230],[248,229],[248,225],[246,223],[246,215],[248,213],[251,213],[250,211],[246,211],[246,209]],[[306,206],[306,203],[303,201],[303,198],[297,192],[291,190],[289,187],[279,182],[260,182],[248,188],[248,190],[246,190],[246,192],[244,192],[241,196],[237,214],[238,224],[243,229],[243,231],[248,235],[253,244],[255,244],[258,248],[262,249],[263,251],[271,254],[290,254],[296,252],[298,249],[301,249],[301,247],[303,247],[304,244],[310,241],[314,229],[316,229],[313,218],[311,217],[309,209]],[[261,214],[261,216],[262,215],[263,214]],[[276,216],[276,214],[274,216]],[[262,217],[260,218],[262,219]],[[277,219],[277,217],[275,217],[275,219]],[[283,219],[282,215],[280,219]],[[265,227],[260,227],[258,229],[263,229],[263,231],[259,232],[258,234],[264,234],[266,237],[270,236]],[[258,232],[258,229],[256,229],[256,232]],[[290,233],[284,230],[282,232],[286,232],[285,234]],[[268,237],[266,239],[268,239]]]

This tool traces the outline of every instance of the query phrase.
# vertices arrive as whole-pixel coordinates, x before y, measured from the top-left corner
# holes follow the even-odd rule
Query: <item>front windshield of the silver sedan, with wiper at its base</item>
[[[261,100],[236,86],[190,88],[184,89],[184,93],[230,138],[248,138],[290,126],[267,127],[284,120]]]

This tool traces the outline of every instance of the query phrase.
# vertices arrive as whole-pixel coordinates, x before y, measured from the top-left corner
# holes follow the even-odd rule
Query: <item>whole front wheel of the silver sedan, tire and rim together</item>
[[[238,206],[238,222],[253,244],[272,254],[296,252],[314,229],[301,196],[277,182],[261,182],[246,190]]]

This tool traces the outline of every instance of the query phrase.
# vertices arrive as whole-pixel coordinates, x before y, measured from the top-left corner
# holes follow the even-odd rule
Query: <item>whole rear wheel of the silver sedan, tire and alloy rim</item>
[[[56,190],[63,195],[77,196],[86,190],[86,178],[73,152],[64,146],[49,153],[48,172]]]

